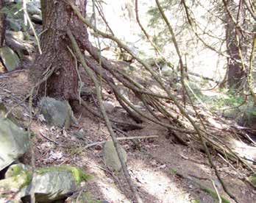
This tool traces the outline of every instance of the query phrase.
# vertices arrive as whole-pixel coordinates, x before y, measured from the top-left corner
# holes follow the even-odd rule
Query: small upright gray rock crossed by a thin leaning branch
[[[127,152],[125,152],[124,148],[122,148],[120,145],[119,147],[122,159],[124,160],[124,163],[127,163]],[[117,152],[115,151],[113,141],[107,141],[104,144],[103,156],[104,162],[106,163],[107,167],[110,168],[110,170],[121,171],[121,162],[118,158]]]

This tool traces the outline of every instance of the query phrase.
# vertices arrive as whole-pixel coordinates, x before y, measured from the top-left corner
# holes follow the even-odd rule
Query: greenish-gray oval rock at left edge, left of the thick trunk
[[[0,48],[0,57],[8,71],[15,70],[15,68],[18,68],[18,65],[20,64],[18,55],[8,46]]]

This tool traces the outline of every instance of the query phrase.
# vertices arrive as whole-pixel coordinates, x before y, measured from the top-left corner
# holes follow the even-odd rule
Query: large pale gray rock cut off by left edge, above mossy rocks
[[[9,118],[0,116],[0,171],[29,149],[29,135]]]

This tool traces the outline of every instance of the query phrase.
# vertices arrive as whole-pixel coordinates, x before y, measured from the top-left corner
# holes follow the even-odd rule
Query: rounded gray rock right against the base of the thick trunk
[[[68,101],[58,101],[50,97],[41,99],[40,113],[43,114],[47,124],[66,129],[71,127],[71,121],[74,118]]]

